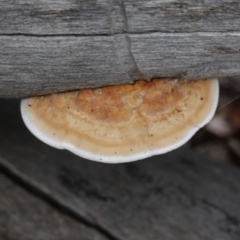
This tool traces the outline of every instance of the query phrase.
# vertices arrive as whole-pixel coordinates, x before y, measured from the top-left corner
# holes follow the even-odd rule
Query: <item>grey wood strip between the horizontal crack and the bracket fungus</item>
[[[240,74],[240,34],[0,36],[0,97]]]

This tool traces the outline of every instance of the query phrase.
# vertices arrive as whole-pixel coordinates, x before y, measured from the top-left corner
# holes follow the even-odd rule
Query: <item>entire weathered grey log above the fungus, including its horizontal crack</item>
[[[1,1],[0,97],[240,74],[238,1]]]

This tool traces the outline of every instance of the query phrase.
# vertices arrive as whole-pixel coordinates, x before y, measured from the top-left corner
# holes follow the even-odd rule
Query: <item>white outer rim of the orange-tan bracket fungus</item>
[[[133,162],[133,161],[137,161],[137,160],[141,160],[144,158],[148,158],[154,155],[159,155],[159,154],[163,154],[163,153],[167,153],[170,152],[180,146],[182,146],[183,144],[185,144],[200,128],[202,128],[203,126],[205,126],[207,123],[209,123],[211,121],[211,119],[213,118],[215,111],[217,109],[217,105],[218,105],[218,97],[219,97],[219,83],[217,79],[211,79],[213,81],[213,85],[211,86],[213,88],[213,103],[212,103],[212,108],[211,111],[209,112],[209,114],[206,116],[206,118],[197,126],[192,126],[192,129],[189,130],[185,137],[183,137],[182,139],[179,139],[177,142],[160,148],[160,149],[154,149],[154,150],[149,150],[149,151],[145,151],[142,153],[137,153],[137,154],[132,154],[132,155],[128,155],[128,156],[102,156],[102,155],[97,155],[97,154],[93,154],[90,152],[87,152],[85,150],[79,149],[78,147],[74,146],[71,143],[68,142],[64,142],[64,141],[55,141],[54,139],[52,139],[51,137],[45,135],[44,133],[42,133],[38,127],[34,124],[34,120],[27,117],[27,114],[25,114],[24,109],[27,107],[28,105],[28,99],[23,99],[21,100],[21,114],[22,114],[22,118],[23,121],[25,123],[25,125],[27,126],[27,128],[31,131],[31,133],[36,136],[38,139],[40,139],[42,142],[47,143],[48,145],[58,148],[58,149],[66,149],[74,154],[76,154],[77,156],[80,156],[82,158],[86,158],[89,160],[93,160],[93,161],[97,161],[97,162],[103,162],[103,163],[125,163],[125,162]]]

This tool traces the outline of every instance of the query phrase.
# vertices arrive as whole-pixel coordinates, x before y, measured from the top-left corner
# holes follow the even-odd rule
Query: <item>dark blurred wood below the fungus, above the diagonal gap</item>
[[[118,239],[238,240],[240,170],[180,149],[118,165],[53,149],[0,101],[0,166]]]

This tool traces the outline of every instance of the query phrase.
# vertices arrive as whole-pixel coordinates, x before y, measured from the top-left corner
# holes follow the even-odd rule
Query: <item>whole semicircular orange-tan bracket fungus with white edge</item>
[[[186,143],[217,108],[216,79],[137,81],[23,99],[26,126],[43,142],[81,157],[120,163]]]

